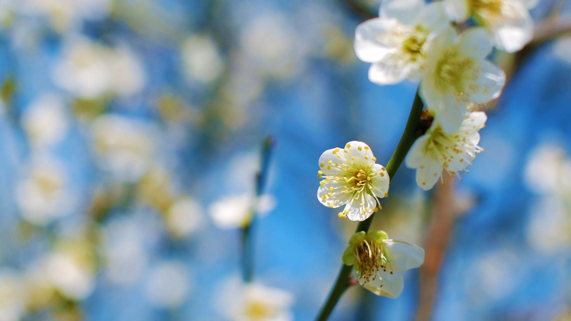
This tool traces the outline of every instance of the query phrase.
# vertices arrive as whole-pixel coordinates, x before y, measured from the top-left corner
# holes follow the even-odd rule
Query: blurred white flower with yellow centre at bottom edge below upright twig
[[[224,315],[235,321],[288,321],[293,320],[293,295],[278,288],[260,283],[231,284],[223,302]]]

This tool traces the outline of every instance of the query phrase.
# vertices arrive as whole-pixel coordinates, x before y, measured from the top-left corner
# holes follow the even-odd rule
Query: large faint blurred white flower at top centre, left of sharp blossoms
[[[281,14],[258,15],[240,37],[249,66],[262,75],[287,77],[299,71],[305,47],[292,23]]]

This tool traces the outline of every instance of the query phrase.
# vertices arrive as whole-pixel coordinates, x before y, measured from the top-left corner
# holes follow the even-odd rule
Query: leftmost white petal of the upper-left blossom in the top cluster
[[[387,33],[395,21],[369,19],[355,29],[355,54],[364,62],[377,62],[391,52],[391,48],[379,41],[379,35]]]

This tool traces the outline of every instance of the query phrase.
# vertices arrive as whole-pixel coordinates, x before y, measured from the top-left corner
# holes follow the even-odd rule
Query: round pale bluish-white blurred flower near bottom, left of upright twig
[[[151,271],[145,295],[154,306],[175,308],[184,303],[190,286],[186,266],[178,262],[166,262]]]

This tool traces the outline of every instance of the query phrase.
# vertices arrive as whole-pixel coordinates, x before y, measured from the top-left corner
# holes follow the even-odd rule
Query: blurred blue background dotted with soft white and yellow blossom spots
[[[0,1],[0,319],[224,319],[240,231],[213,218],[247,210],[268,134],[254,279],[312,319],[355,228],[317,201],[317,159],[360,140],[386,164],[416,90],[372,84],[355,57],[378,5]],[[398,299],[351,288],[332,319],[571,319],[566,35],[493,54],[513,77],[463,182],[421,192],[403,166],[373,222],[424,266]]]

